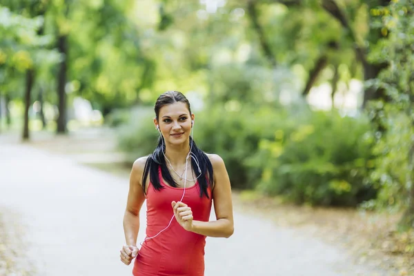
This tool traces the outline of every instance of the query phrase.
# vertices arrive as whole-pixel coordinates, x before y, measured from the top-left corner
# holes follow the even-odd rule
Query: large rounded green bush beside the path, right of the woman
[[[297,204],[356,206],[375,197],[368,181],[373,138],[366,119],[304,112],[262,139],[251,166],[263,168],[257,188]]]

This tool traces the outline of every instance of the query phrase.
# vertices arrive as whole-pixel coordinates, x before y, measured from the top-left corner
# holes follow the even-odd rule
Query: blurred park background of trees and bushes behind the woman
[[[0,141],[119,173],[179,90],[235,195],[392,217],[413,268],[413,45],[409,0],[0,0]]]

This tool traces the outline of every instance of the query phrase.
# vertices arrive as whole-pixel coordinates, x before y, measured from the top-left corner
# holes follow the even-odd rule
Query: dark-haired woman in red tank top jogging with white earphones
[[[154,109],[160,139],[152,155],[132,166],[121,261],[129,265],[136,257],[135,276],[202,276],[206,236],[233,235],[228,173],[218,155],[199,150],[190,136],[194,114],[184,95],[165,92]],[[139,212],[145,200],[146,239],[139,249]],[[208,221],[212,202],[217,220]]]

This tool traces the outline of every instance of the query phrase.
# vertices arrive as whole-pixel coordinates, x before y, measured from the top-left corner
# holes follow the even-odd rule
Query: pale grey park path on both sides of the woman
[[[132,265],[119,261],[127,193],[125,177],[0,143],[0,207],[21,221],[35,276],[131,275]],[[207,239],[206,276],[220,275],[385,276],[353,264],[339,248],[237,208],[234,235]]]

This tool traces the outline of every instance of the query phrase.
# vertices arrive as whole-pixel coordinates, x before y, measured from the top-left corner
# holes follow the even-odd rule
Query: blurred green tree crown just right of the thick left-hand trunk
[[[141,29],[130,19],[131,0],[71,5],[66,17],[74,92],[108,114],[137,102],[155,80],[155,63],[141,51]]]

